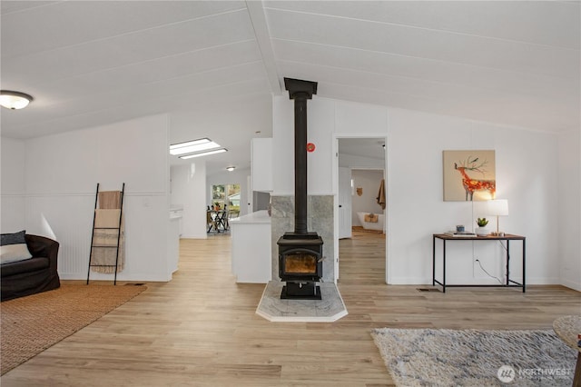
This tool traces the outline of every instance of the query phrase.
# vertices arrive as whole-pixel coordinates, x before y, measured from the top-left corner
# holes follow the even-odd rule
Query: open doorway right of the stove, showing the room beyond
[[[337,205],[335,206],[335,251],[337,252],[335,264],[335,279],[340,279],[341,257],[345,256],[345,264],[352,265],[353,254],[361,259],[357,260],[359,273],[380,278],[381,283],[387,283],[388,273],[388,240],[386,238],[389,227],[387,208],[377,203],[379,188],[383,182],[384,194],[387,198],[387,157],[385,137],[369,136],[345,136],[336,138],[336,164],[334,174],[336,182]],[[359,214],[358,214],[359,213]],[[382,226],[379,226],[381,215]],[[362,223],[364,217],[369,217],[371,222]],[[349,217],[349,219],[346,219]],[[352,228],[352,226],[355,226]],[[369,227],[367,227],[369,226]],[[350,230],[346,230],[349,227]],[[372,229],[381,228],[379,233]],[[353,232],[355,230],[355,232]],[[357,252],[353,246],[363,246]],[[348,266],[346,266],[347,268]],[[380,273],[378,273],[380,272]],[[345,273],[354,273],[346,270]],[[351,275],[351,274],[350,274]],[[349,281],[349,278],[341,278]]]

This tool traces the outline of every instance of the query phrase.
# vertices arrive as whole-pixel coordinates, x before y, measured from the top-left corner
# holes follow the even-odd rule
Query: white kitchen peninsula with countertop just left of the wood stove
[[[232,273],[238,283],[271,281],[271,217],[266,211],[230,221]]]

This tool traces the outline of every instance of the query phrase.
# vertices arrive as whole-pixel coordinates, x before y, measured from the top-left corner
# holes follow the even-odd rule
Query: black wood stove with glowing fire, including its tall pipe
[[[317,283],[323,275],[323,240],[307,230],[307,100],[317,94],[317,83],[284,78],[294,100],[294,232],[284,233],[279,245],[281,299],[320,300]]]

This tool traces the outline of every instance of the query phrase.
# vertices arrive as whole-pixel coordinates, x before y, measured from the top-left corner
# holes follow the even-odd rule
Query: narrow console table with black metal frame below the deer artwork
[[[439,282],[436,279],[436,240],[442,241],[442,281]],[[503,284],[493,284],[493,285],[478,285],[478,284],[466,284],[458,285],[446,284],[446,243],[449,241],[507,241],[507,273],[506,273],[506,283]],[[510,241],[521,241],[523,243],[523,283],[517,283],[510,279]],[[433,245],[432,245],[432,286],[436,286],[436,283],[442,286],[442,292],[446,293],[447,287],[483,287],[483,286],[504,286],[504,287],[521,287],[523,288],[523,293],[525,293],[525,279],[526,279],[526,238],[520,235],[513,235],[510,233],[499,235],[487,235],[487,236],[452,236],[446,233],[435,233],[433,235]]]

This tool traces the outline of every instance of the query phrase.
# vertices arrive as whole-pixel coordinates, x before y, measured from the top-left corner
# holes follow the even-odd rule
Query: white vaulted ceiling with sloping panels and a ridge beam
[[[2,89],[34,96],[2,109],[3,136],[171,113],[172,141],[209,136],[247,164],[283,77],[318,82],[322,97],[579,128],[578,1],[3,0],[0,11]]]

